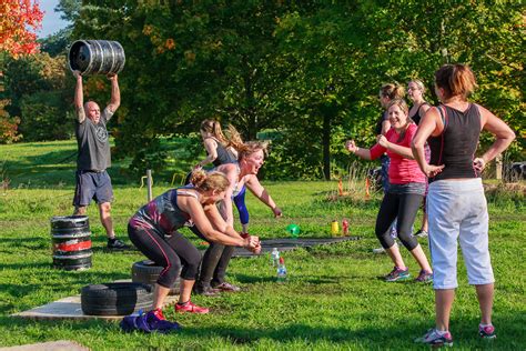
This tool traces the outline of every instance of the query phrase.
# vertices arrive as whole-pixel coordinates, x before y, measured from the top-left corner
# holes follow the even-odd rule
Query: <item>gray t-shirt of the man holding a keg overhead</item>
[[[113,112],[105,108],[98,124],[88,117],[82,123],[77,121],[75,136],[79,147],[77,170],[103,171],[111,166],[110,140],[105,123],[112,116]]]

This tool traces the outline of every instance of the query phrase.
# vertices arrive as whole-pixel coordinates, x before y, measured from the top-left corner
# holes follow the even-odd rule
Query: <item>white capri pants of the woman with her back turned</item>
[[[438,180],[427,194],[433,288],[455,289],[457,241],[472,285],[495,282],[488,250],[488,214],[482,179]]]

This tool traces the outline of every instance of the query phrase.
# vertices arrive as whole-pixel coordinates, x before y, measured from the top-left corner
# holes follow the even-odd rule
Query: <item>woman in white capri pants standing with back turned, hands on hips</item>
[[[412,142],[413,154],[431,183],[427,212],[436,327],[417,341],[432,345],[453,344],[448,329],[457,287],[458,240],[468,281],[476,288],[481,307],[478,334],[495,338],[488,217],[479,173],[487,162],[506,150],[515,134],[495,114],[467,101],[475,87],[475,77],[467,66],[445,64],[438,69],[435,72],[435,91],[443,104],[427,111]],[[496,140],[477,158],[475,153],[481,130],[489,131]],[[427,140],[432,151],[429,163],[424,158]]]

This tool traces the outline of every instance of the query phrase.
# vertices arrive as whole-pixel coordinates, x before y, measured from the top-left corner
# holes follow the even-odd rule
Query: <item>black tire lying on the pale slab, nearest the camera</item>
[[[88,315],[128,315],[153,303],[152,288],[140,283],[107,283],[82,288],[82,312]]]

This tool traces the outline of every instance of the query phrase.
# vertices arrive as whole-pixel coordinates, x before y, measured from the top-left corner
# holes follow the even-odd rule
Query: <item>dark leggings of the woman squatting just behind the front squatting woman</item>
[[[190,227],[190,230],[198,237],[206,240],[204,235],[198,230],[198,228]],[[210,285],[219,285],[224,282],[226,275],[226,268],[229,267],[230,259],[234,254],[235,247],[224,245],[218,242],[210,242],[210,245],[204,252],[203,261],[201,263],[201,271],[198,279],[198,287],[205,288]]]

